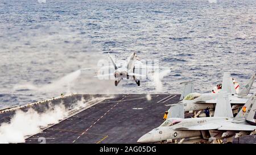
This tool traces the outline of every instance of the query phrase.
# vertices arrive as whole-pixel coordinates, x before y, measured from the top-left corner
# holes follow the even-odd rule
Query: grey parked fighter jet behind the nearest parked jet
[[[233,105],[232,109],[237,109],[238,107],[241,107],[247,102],[247,100],[251,96],[251,94],[249,94],[249,91],[254,81],[255,74],[251,76],[246,85],[243,86],[242,89],[240,89],[240,92],[238,94],[236,94],[233,79],[230,77],[229,73],[224,73],[221,90],[228,93],[230,104]],[[192,82],[185,82],[184,85],[184,91],[181,94],[180,98],[181,101],[177,103],[184,105],[184,112],[199,111],[204,110],[205,108],[209,108],[211,110],[214,109],[214,107],[216,106],[218,93],[194,93],[194,87]],[[175,104],[171,104],[170,106],[170,108],[172,108],[172,106],[175,106]]]

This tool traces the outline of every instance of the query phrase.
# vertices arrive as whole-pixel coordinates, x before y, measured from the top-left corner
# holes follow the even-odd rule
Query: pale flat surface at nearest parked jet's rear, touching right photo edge
[[[254,131],[256,126],[246,125],[246,124],[237,124],[237,123],[225,123],[218,130],[229,130],[229,131]]]

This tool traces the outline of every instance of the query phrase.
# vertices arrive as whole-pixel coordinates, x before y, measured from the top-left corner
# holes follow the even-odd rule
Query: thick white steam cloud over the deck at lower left
[[[82,101],[77,102],[81,105]],[[0,143],[24,143],[27,136],[39,133],[49,124],[59,123],[68,116],[68,108],[60,103],[50,106],[43,113],[38,113],[30,108],[27,112],[16,111],[10,123],[2,123],[0,126]]]

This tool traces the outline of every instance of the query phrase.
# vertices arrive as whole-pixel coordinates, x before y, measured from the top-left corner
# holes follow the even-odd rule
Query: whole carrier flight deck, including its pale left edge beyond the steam
[[[180,94],[71,94],[0,110],[0,124],[9,123],[16,110],[33,108],[39,114],[52,105],[64,104],[68,114],[59,123],[41,128],[25,143],[135,144],[137,140],[163,123],[170,104],[179,102]],[[77,103],[82,103],[79,108]],[[234,139],[233,143],[255,143],[255,135]]]

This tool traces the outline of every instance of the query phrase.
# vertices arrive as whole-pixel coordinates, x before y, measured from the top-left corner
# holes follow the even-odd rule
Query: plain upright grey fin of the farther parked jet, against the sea
[[[224,72],[221,90],[226,91],[227,93],[236,94],[232,77],[230,77],[228,72]]]

